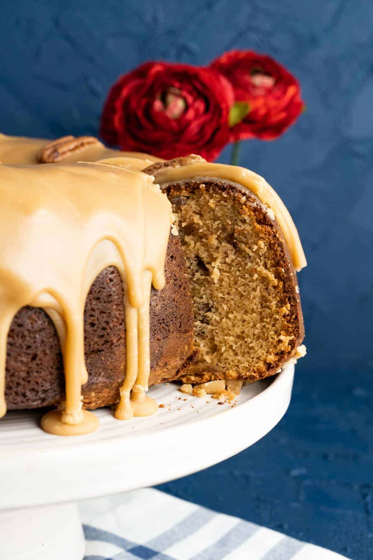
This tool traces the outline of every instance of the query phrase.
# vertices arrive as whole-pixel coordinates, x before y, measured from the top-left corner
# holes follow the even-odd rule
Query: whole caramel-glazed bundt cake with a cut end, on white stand
[[[0,416],[57,405],[44,430],[87,433],[88,409],[153,413],[149,385],[237,393],[304,355],[305,256],[260,176],[93,137],[0,135],[0,160]]]

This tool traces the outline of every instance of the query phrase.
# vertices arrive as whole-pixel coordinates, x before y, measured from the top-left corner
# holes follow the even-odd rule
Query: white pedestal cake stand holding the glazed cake
[[[39,413],[8,413],[0,422],[1,558],[81,560],[77,500],[183,477],[253,445],[284,416],[293,377],[287,366],[245,386],[235,407],[174,384],[152,387],[165,408],[122,422],[98,410],[100,428],[87,436],[51,436]]]

